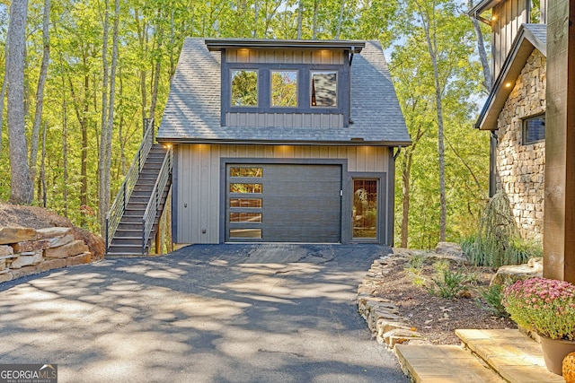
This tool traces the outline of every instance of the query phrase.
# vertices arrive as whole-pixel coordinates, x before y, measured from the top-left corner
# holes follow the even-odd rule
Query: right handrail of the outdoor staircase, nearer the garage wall
[[[146,206],[146,213],[144,213],[144,217],[142,217],[142,254],[146,254],[147,242],[150,239],[152,229],[154,228],[154,222],[159,212],[159,206],[164,196],[165,187],[172,175],[172,166],[173,150],[171,146],[168,146],[168,150],[164,156],[164,161],[162,162],[162,168],[160,168],[158,177],[155,180],[154,189],[152,190],[152,195],[150,196]]]

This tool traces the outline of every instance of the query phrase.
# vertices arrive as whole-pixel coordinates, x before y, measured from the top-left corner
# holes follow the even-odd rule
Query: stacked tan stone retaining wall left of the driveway
[[[74,239],[72,228],[0,228],[0,283],[91,260],[88,246]]]

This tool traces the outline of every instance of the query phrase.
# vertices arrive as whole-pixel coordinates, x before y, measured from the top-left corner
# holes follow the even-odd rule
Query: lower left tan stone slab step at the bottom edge
[[[416,383],[505,382],[461,346],[396,344],[395,353],[403,372]]]

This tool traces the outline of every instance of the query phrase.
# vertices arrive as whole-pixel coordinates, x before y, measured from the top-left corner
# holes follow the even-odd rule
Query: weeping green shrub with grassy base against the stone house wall
[[[540,244],[520,238],[509,198],[502,190],[486,205],[479,233],[463,239],[461,247],[473,265],[491,267],[520,265],[530,257],[543,256]]]

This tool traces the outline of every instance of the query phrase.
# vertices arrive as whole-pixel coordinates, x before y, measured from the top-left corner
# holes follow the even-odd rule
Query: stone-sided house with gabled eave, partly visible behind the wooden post
[[[491,131],[491,196],[503,189],[526,239],[543,239],[546,1],[483,0],[492,87],[475,127]]]

